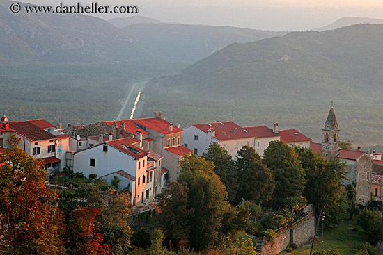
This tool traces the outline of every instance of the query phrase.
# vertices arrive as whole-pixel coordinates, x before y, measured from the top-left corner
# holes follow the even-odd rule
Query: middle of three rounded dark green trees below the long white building
[[[274,190],[274,176],[269,168],[263,165],[259,154],[246,145],[238,151],[235,164],[241,183],[237,201],[242,198],[249,201],[269,201]]]

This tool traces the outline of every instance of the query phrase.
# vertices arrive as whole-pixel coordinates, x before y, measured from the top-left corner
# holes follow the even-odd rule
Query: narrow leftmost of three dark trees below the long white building
[[[217,142],[211,143],[202,156],[206,160],[214,163],[214,173],[217,174],[224,183],[226,191],[228,192],[228,200],[234,201],[237,196],[238,179],[233,157]]]

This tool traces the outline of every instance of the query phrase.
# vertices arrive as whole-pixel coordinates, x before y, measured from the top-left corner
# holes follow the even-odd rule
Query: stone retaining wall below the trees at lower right
[[[260,255],[276,255],[282,252],[289,243],[296,243],[298,247],[308,244],[313,240],[315,235],[315,217],[311,216],[308,219],[295,224],[295,226],[278,233],[274,245],[265,243],[262,247]]]

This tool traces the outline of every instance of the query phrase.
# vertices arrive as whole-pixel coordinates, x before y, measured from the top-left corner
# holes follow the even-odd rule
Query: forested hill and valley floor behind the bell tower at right
[[[158,90],[166,100],[159,99],[156,107],[146,103],[144,113],[162,109],[184,126],[214,120],[279,122],[283,129],[296,127],[318,140],[334,101],[341,139],[379,143],[382,67],[382,25],[232,44],[180,74],[151,81],[145,101]]]

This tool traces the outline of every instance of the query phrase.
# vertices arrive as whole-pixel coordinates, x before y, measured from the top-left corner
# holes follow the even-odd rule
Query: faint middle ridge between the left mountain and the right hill
[[[194,24],[133,24],[123,28],[164,58],[195,62],[234,42],[254,42],[285,35],[286,31],[261,31],[233,26]]]

